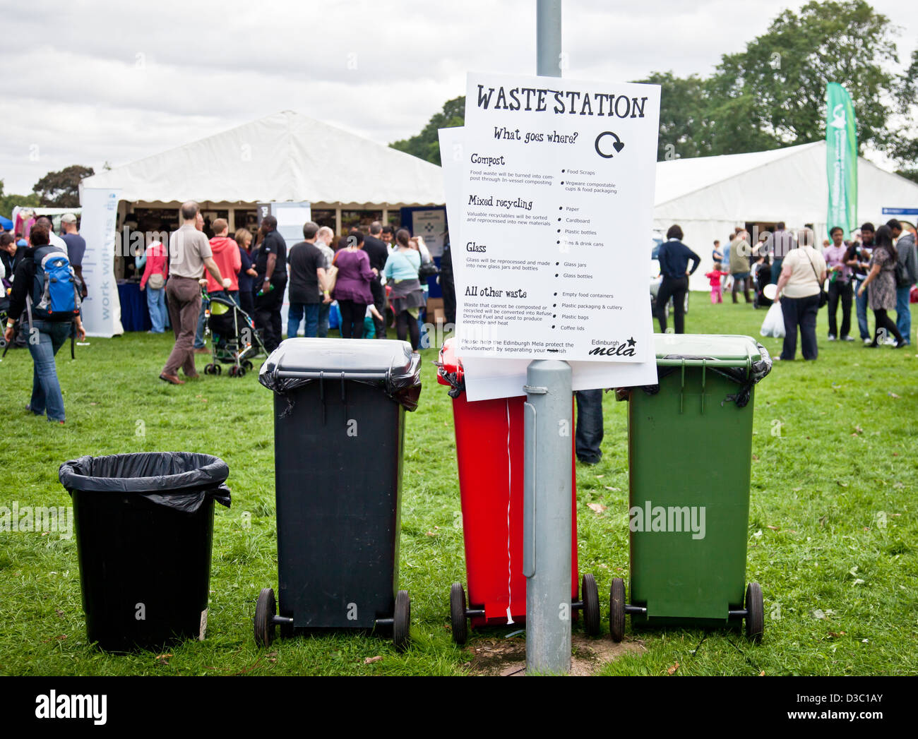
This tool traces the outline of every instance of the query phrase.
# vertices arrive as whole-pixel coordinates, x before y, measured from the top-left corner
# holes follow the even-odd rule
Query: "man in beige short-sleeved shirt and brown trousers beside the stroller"
[[[189,200],[182,204],[182,227],[169,236],[169,281],[166,283],[166,297],[169,298],[169,319],[175,334],[175,345],[169,359],[162,368],[160,379],[173,385],[184,385],[178,377],[182,368],[186,377],[196,378],[195,330],[197,315],[201,309],[201,286],[204,269],[214,275],[225,288],[229,277],[220,274],[214,262],[207,236],[195,228],[197,203]]]

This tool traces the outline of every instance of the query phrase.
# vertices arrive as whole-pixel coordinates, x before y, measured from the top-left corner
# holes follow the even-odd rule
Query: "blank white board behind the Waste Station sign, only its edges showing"
[[[443,192],[446,196],[446,213],[451,224],[459,223],[462,210],[460,200],[462,162],[465,159],[465,129],[462,127],[440,129],[440,159],[443,170]],[[462,244],[458,225],[450,228],[450,241]],[[464,286],[457,282],[456,290]],[[490,359],[461,356],[465,370],[465,397],[470,401],[490,400],[496,397],[524,395],[527,359]],[[623,364],[621,362],[571,362],[571,381],[574,390],[595,387],[629,387],[655,385],[656,362]]]

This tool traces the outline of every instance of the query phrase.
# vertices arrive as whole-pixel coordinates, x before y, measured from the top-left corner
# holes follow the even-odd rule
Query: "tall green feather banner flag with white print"
[[[841,226],[845,239],[857,228],[857,129],[855,106],[842,85],[826,86],[826,168],[829,174],[829,215],[826,227]]]

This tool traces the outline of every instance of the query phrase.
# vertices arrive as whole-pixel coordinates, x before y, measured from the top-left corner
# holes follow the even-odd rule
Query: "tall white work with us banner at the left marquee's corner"
[[[124,333],[115,282],[115,236],[120,192],[84,187],[80,195],[83,207],[80,235],[86,240],[83,276],[88,295],[83,301],[83,326],[87,336],[109,338]]]

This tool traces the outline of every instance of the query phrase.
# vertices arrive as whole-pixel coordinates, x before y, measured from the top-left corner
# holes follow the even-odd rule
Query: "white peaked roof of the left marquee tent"
[[[313,207],[442,205],[440,167],[289,110],[83,181],[151,207],[309,201]],[[340,228],[339,228],[340,230]]]

